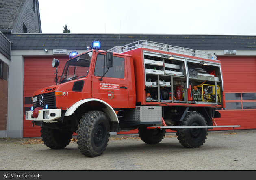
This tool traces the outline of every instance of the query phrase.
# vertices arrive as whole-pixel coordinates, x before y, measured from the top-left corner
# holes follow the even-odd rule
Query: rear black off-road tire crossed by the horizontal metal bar
[[[204,117],[197,112],[189,112],[179,126],[206,126]],[[184,147],[197,148],[207,139],[207,128],[178,128],[176,135]]]

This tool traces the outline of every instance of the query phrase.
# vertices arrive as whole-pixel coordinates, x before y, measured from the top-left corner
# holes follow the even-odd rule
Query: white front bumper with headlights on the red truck
[[[48,112],[46,112],[48,111]],[[54,120],[61,117],[61,109],[41,109],[38,111],[38,117],[32,117],[33,111],[26,111],[26,120],[28,121],[43,121],[56,122]],[[46,115],[48,114],[48,115]]]

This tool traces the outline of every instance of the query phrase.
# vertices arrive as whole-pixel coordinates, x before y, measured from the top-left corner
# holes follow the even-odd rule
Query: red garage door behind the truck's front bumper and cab
[[[40,137],[40,126],[32,127],[31,121],[25,120],[25,112],[31,109],[33,93],[41,88],[55,85],[55,68],[52,68],[52,59],[60,61],[58,73],[62,74],[68,57],[25,57],[24,58],[24,114],[23,137]],[[58,74],[58,75],[59,75]]]

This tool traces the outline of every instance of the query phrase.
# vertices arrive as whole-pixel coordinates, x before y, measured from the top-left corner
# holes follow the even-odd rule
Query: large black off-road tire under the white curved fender
[[[102,111],[89,111],[78,125],[77,143],[80,152],[88,157],[100,156],[109,141],[109,121]]]

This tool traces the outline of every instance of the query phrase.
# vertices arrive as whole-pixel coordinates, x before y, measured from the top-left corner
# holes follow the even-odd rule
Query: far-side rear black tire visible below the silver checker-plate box
[[[147,126],[138,128],[139,137],[144,143],[157,144],[165,136],[165,129],[147,129]]]

